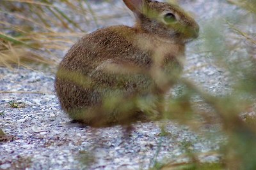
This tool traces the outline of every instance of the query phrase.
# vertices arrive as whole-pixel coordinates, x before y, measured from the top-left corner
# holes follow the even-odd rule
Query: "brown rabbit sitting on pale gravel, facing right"
[[[68,51],[56,74],[61,108],[93,127],[152,120],[182,69],[195,20],[175,4],[124,0],[136,25],[99,29]]]

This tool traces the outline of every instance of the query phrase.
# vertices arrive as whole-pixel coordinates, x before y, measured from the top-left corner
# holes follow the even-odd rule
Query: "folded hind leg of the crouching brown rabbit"
[[[93,88],[102,94],[102,110],[109,120],[124,125],[157,114],[156,97],[150,94],[152,79],[135,64],[105,60],[92,71],[90,78]]]

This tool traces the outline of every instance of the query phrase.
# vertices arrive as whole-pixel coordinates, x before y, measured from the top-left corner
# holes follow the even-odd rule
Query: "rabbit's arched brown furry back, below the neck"
[[[113,26],[87,34],[72,46],[60,67],[87,74],[108,59],[127,60],[148,67],[151,62],[148,52],[143,52],[134,44],[138,32],[128,26]]]

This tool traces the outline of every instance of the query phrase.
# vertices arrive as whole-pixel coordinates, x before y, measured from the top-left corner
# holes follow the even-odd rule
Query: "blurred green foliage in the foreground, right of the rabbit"
[[[202,29],[203,43],[199,48],[208,52],[215,66],[228,73],[231,92],[223,90],[225,94],[221,97],[213,96],[193,81],[181,78],[180,84],[185,86],[184,94],[170,99],[170,108],[166,113],[166,117],[175,118],[195,130],[204,127],[204,122],[221,124],[227,143],[223,142],[218,151],[220,163],[201,162],[200,154],[187,150],[187,162],[161,166],[157,163],[152,169],[256,169],[256,1],[227,2],[236,5],[237,11],[206,21]],[[209,113],[205,114],[203,110],[191,109],[192,97],[197,95],[202,98],[202,103],[212,108],[210,115],[215,115],[213,119],[209,119]],[[204,121],[197,119],[196,115]]]

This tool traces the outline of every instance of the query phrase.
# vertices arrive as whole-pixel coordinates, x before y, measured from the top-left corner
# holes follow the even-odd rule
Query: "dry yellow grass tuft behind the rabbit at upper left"
[[[0,15],[6,16],[0,20],[0,66],[10,68],[34,62],[56,66],[62,57],[56,53],[86,34],[81,23],[99,27],[99,18],[85,0],[3,0]]]

